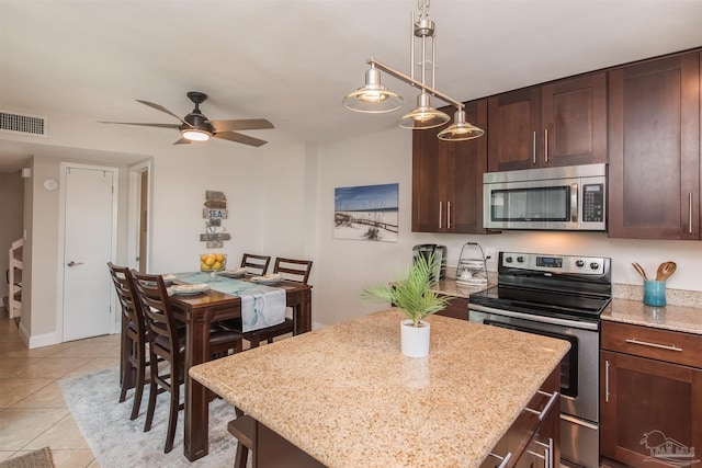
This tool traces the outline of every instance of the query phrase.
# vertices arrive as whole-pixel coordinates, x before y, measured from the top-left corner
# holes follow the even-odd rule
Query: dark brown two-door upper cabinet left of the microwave
[[[452,113],[453,107],[444,109]],[[466,103],[466,119],[487,125],[485,100]],[[412,133],[412,231],[485,233],[483,173],[487,140],[442,141],[440,128]]]

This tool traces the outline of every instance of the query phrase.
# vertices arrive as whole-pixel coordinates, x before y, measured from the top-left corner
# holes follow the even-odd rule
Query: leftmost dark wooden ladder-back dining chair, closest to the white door
[[[141,397],[146,385],[146,368],[149,365],[149,361],[146,358],[148,330],[141,308],[138,307],[139,301],[129,269],[115,265],[112,262],[107,262],[107,267],[110,269],[110,275],[112,276],[123,315],[120,350],[122,363],[120,402],[122,403],[126,399],[129,383],[134,384],[134,402],[132,403],[129,419],[135,420],[141,407]]]

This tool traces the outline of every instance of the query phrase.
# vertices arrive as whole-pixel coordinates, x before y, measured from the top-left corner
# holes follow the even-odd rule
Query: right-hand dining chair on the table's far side
[[[273,265],[273,273],[280,274],[284,281],[307,284],[312,272],[312,260],[296,260],[276,258]],[[294,311],[293,311],[294,315]],[[261,341],[272,343],[273,339],[287,333],[295,333],[295,317],[285,317],[282,323],[265,327],[252,331],[242,331],[241,319],[231,319],[218,322],[219,327],[226,330],[241,331],[244,339],[249,342],[250,347],[258,347]]]

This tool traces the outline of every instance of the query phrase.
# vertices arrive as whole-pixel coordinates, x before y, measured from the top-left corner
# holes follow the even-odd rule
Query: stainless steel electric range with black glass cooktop
[[[469,320],[567,340],[561,363],[561,454],[599,467],[600,315],[612,295],[611,260],[500,252],[497,286],[469,297]]]

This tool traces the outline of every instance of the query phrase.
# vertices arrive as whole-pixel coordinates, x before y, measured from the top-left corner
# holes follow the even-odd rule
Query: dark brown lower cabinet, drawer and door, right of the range
[[[700,335],[603,322],[602,456],[647,468],[702,458],[702,370],[676,363],[702,359],[700,347]]]

